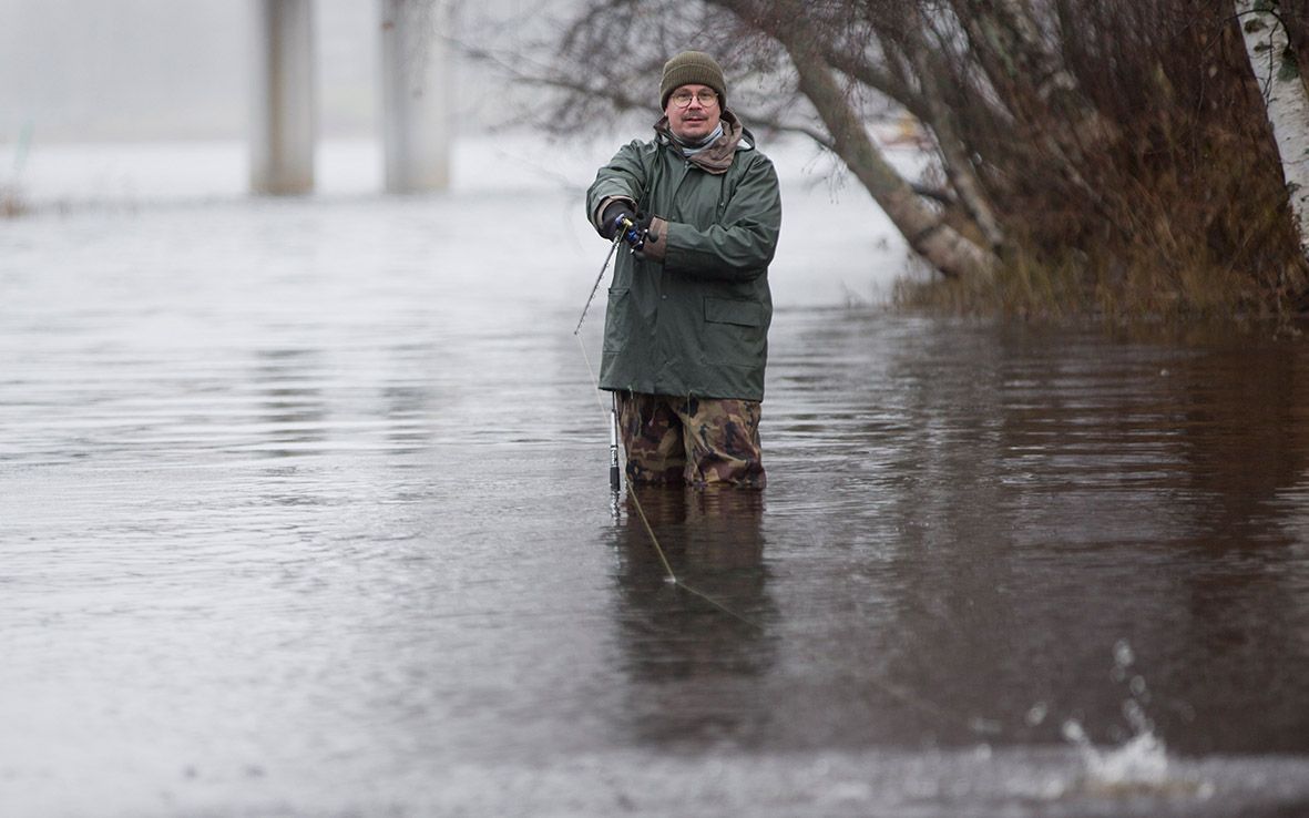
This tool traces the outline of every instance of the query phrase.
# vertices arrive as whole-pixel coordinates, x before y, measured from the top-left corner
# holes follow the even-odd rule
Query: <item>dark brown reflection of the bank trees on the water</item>
[[[1127,639],[1170,747],[1305,751],[1309,711],[1291,691],[1309,658],[1309,573],[1280,501],[1304,482],[1300,344],[872,318],[816,323],[798,346],[852,338],[867,355],[804,361],[804,390],[842,395],[839,436],[814,433],[809,411],[772,435],[848,499],[829,505],[846,520],[823,539],[857,552],[877,624],[844,639],[950,704],[959,717],[933,734],[963,741],[973,717],[1004,725],[994,741],[1058,741],[1059,719],[1016,719],[1039,703],[1122,741],[1131,696],[1107,673]],[[823,516],[781,492],[771,513],[795,492],[797,516]],[[891,722],[874,729],[928,730]]]

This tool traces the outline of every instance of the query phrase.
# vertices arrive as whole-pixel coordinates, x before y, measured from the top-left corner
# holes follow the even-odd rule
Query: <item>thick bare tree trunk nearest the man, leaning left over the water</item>
[[[801,42],[783,39],[796,72],[800,90],[818,110],[831,133],[836,154],[855,174],[910,247],[948,277],[990,279],[999,259],[923,204],[908,183],[891,168],[868,136],[863,120],[836,84],[819,51]]]

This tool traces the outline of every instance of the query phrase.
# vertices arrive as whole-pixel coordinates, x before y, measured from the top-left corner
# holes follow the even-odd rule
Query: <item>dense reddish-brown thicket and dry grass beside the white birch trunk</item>
[[[901,302],[1115,321],[1304,315],[1309,264],[1230,16],[1182,0],[1064,8],[1081,16],[1083,38],[1062,54],[1075,110],[1107,127],[1069,136],[1063,111],[1021,82],[997,86],[1017,113],[1009,130],[994,99],[961,99],[956,131],[1001,213],[1004,264],[991,285],[906,287]],[[986,64],[984,48],[973,54]]]

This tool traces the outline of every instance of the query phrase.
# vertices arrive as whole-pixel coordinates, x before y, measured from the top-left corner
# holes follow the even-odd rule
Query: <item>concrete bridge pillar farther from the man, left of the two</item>
[[[314,187],[313,0],[254,0],[254,110],[250,187],[306,194]]]

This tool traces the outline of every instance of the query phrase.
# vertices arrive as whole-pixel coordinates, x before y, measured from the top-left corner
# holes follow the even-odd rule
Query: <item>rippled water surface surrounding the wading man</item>
[[[639,512],[504,207],[0,225],[0,814],[1309,814],[1301,339],[779,300]]]

